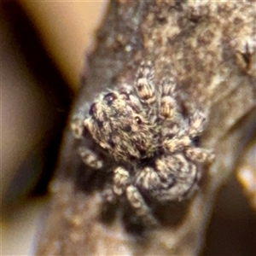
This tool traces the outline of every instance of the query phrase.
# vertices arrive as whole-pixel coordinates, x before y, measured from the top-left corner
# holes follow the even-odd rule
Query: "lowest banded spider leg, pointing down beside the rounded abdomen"
[[[142,217],[147,224],[157,224],[156,219],[152,215],[150,208],[143,199],[143,196],[135,186],[128,186],[126,189],[126,196],[131,203],[131,207],[137,213],[137,216]]]

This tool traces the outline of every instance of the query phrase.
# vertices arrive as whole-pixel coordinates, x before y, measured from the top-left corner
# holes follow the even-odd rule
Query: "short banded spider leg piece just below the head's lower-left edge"
[[[89,148],[86,147],[79,147],[79,154],[81,156],[81,159],[84,161],[84,164],[86,166],[90,166],[92,169],[101,169],[103,166],[103,161],[100,159],[100,157],[92,152]]]

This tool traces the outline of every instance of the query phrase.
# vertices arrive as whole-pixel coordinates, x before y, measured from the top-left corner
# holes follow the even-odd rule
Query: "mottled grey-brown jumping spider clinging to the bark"
[[[139,67],[135,84],[98,96],[84,126],[117,162],[111,198],[126,194],[137,215],[153,222],[143,195],[164,203],[187,198],[197,187],[201,165],[213,160],[210,151],[195,146],[205,120],[198,110],[183,116],[175,83],[154,83],[151,63]],[[79,150],[87,166],[103,167],[89,148]]]

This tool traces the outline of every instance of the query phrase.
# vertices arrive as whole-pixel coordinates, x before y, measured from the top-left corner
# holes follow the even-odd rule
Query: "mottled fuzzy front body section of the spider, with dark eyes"
[[[149,158],[157,150],[160,127],[131,92],[108,92],[92,104],[84,125],[115,160]]]

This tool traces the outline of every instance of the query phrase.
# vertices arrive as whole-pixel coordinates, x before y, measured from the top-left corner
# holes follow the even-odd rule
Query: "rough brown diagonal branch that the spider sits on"
[[[158,206],[160,227],[148,228],[124,204],[106,207],[108,173],[79,159],[67,127],[53,198],[38,237],[38,255],[197,255],[214,198],[255,135],[256,12],[254,1],[114,1],[97,32],[71,119],[82,122],[97,93],[132,83],[142,60],[157,78],[174,77],[186,108],[209,109],[201,143],[216,160],[185,202]],[[108,161],[106,159],[106,161]],[[110,163],[111,164],[111,163]]]

